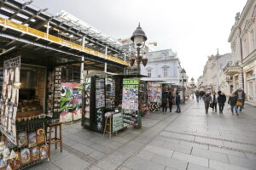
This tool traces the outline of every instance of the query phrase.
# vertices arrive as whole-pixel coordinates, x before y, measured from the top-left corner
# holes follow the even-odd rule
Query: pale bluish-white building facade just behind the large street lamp
[[[182,67],[177,58],[177,53],[172,49],[149,52],[148,64],[141,65],[141,74],[147,76],[145,81],[163,81],[173,85],[182,85],[180,71]],[[187,78],[187,77],[184,77]]]

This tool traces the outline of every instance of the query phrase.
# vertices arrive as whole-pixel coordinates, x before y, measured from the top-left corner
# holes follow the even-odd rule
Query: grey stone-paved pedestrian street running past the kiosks
[[[256,169],[255,108],[233,116],[227,107],[223,115],[206,115],[202,102],[182,106],[181,114],[144,116],[142,129],[113,139],[67,124],[63,152],[52,150],[49,162],[31,169]]]

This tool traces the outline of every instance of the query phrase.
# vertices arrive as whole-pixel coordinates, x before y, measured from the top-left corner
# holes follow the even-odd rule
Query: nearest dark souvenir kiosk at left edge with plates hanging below
[[[60,117],[63,68],[32,65],[20,51],[1,57],[0,169],[24,169],[49,160],[46,132]]]

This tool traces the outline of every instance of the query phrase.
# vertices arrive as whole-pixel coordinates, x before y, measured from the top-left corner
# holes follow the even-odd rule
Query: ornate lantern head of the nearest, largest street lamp
[[[134,48],[137,50],[136,62],[137,62],[137,74],[140,74],[140,64],[143,61],[143,65],[146,66],[148,63],[148,59],[146,57],[141,56],[141,50],[145,47],[145,42],[148,37],[146,37],[145,32],[143,31],[140,23],[137,26],[137,29],[133,32],[131,36],[131,41],[134,43]],[[144,55],[143,55],[144,56]],[[135,59],[130,59],[130,65],[134,64]]]

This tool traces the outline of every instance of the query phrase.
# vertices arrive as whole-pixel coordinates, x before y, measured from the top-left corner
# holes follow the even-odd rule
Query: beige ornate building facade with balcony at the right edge
[[[241,14],[236,14],[229,42],[232,49],[232,63],[227,66],[226,75],[233,76],[234,88],[244,88],[247,103],[256,106],[256,1],[247,0]]]

